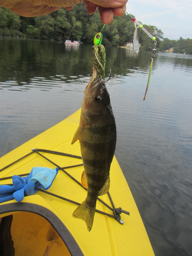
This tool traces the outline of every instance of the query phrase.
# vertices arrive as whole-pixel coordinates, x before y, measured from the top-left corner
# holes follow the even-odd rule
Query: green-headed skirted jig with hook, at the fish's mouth
[[[112,10],[111,10],[112,12]],[[109,13],[109,16],[111,14],[111,12]],[[108,18],[109,18],[108,16]],[[103,28],[105,27],[108,18],[103,26]],[[102,30],[99,33],[97,33],[93,39],[93,47],[92,47],[92,77],[91,80],[89,82],[89,84],[87,84],[84,93],[86,92],[87,88],[90,86],[90,84],[92,84],[92,82],[94,80],[96,80],[97,78],[99,78],[100,76],[102,76],[103,80],[105,80],[105,61],[106,61],[106,54],[105,54],[105,47],[101,44],[102,42]],[[111,77],[111,72],[109,73],[109,79]],[[109,80],[108,79],[108,80]],[[107,82],[108,80],[106,80],[105,82]]]

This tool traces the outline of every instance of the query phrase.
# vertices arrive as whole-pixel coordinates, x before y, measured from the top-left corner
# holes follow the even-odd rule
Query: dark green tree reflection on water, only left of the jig
[[[0,52],[1,81],[29,83],[34,73],[45,78],[90,74],[91,51],[66,51],[64,43],[1,38]]]

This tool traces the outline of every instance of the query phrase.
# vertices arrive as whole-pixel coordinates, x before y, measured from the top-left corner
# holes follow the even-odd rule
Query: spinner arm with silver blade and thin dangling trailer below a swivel
[[[122,9],[124,10],[124,8],[122,7]],[[124,12],[126,12],[124,10]],[[148,87],[149,87],[149,82],[150,82],[150,78],[151,78],[151,72],[152,72],[152,67],[153,67],[153,60],[155,59],[155,53],[156,53],[156,37],[155,36],[152,36],[146,28],[143,27],[142,24],[140,24],[135,18],[133,18],[128,12],[126,12],[131,18],[132,18],[132,21],[134,22],[134,26],[135,26],[135,31],[134,31],[134,35],[133,35],[133,51],[135,53],[138,53],[139,52],[139,31],[138,31],[138,28],[141,28],[155,43],[155,46],[153,48],[153,52],[152,52],[152,55],[151,55],[151,66],[150,66],[150,70],[149,70],[149,76],[148,76],[148,82],[147,82],[147,88],[146,88],[146,91],[145,91],[145,95],[144,95],[144,98],[143,100],[145,100],[145,97],[146,97],[146,93],[148,91]]]

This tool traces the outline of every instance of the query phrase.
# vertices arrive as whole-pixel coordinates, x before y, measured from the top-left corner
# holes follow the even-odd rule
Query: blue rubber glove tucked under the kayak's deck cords
[[[34,167],[28,176],[12,177],[13,185],[0,186],[0,203],[15,199],[21,202],[24,196],[31,196],[37,192],[35,187],[48,189],[51,187],[59,168],[50,169],[47,167]]]

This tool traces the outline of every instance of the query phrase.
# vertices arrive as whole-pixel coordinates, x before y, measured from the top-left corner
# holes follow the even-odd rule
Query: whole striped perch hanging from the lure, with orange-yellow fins
[[[87,188],[87,197],[73,212],[73,217],[84,220],[90,231],[97,197],[109,190],[109,172],[116,147],[115,117],[102,76],[94,80],[84,94],[79,127],[71,144],[77,140],[84,164],[81,182]]]

